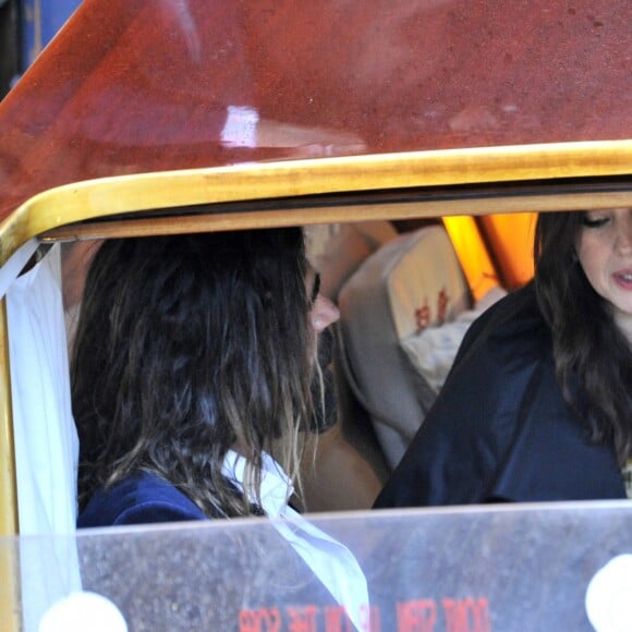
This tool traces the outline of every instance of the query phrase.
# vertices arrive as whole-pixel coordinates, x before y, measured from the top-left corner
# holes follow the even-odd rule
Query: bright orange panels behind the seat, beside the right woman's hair
[[[515,290],[533,277],[535,217],[519,212],[443,218],[475,301],[496,284]]]

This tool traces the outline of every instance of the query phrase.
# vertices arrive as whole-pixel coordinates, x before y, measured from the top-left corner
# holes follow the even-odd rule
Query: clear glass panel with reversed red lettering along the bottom
[[[631,613],[632,506],[624,501],[308,518],[358,560],[374,631],[581,631],[592,629],[588,611],[594,622]],[[14,546],[4,539],[0,552]],[[83,590],[107,597],[130,630],[352,630],[263,520],[23,537],[19,547],[23,559],[37,551],[22,566],[23,586],[35,590],[46,570],[61,568],[65,549]],[[60,575],[69,593],[71,575]],[[80,616],[81,598],[73,600]],[[107,615],[102,603],[88,606],[88,622]]]

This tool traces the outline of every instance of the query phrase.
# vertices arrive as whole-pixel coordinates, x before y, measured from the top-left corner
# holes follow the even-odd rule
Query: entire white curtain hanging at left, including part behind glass
[[[71,413],[59,246],[7,292],[25,630],[77,590],[78,440]],[[69,544],[71,543],[71,544]]]

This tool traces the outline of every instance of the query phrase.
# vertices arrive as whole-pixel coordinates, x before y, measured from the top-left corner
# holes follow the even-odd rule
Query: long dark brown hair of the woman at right
[[[632,349],[578,260],[584,217],[580,211],[539,215],[535,288],[552,331],[564,399],[587,422],[593,440],[611,442],[623,464],[632,457]]]

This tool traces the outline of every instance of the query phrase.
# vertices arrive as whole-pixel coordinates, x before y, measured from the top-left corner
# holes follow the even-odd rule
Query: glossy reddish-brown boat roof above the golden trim
[[[85,0],[0,102],[0,219],[104,177],[628,141],[630,24],[629,0]],[[552,174],[630,173],[612,147]]]

